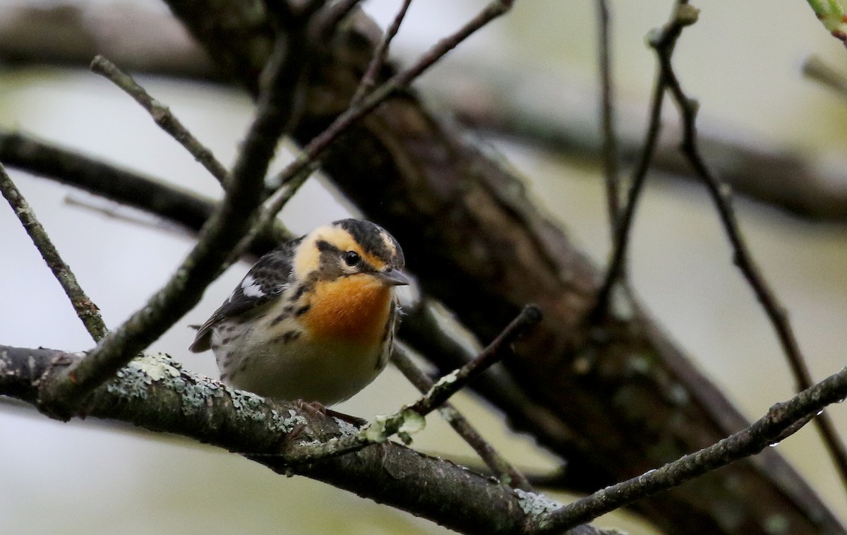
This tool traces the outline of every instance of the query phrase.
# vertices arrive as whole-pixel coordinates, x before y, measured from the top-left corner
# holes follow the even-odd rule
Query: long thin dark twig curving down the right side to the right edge
[[[680,5],[684,4],[681,3]],[[695,8],[690,9],[693,10]],[[678,9],[678,11],[680,10]],[[686,16],[688,19],[685,18]],[[678,14],[678,18],[681,20],[681,29],[683,25],[691,24],[696,19],[696,13],[693,12],[688,15]],[[794,329],[791,328],[789,317],[784,307],[779,302],[770,285],[767,284],[767,280],[756,265],[756,261],[750,254],[744,237],[741,235],[741,229],[739,228],[738,219],[735,217],[732,205],[731,190],[727,185],[722,184],[717,179],[717,176],[706,166],[706,162],[700,154],[696,127],[699,104],[685,95],[676,73],[673,71],[673,65],[671,63],[673,43],[667,41],[667,39],[660,38],[650,41],[650,46],[656,49],[656,55],[659,59],[662,73],[667,80],[667,88],[679,108],[684,132],[682,151],[691,164],[691,167],[694,168],[695,174],[706,185],[706,190],[708,190],[711,200],[715,203],[715,208],[717,209],[724,232],[726,232],[729,243],[732,245],[734,251],[734,263],[741,270],[747,283],[750,284],[750,288],[756,294],[756,299],[761,303],[773,329],[776,331],[779,343],[783,348],[783,353],[789,361],[789,367],[797,383],[797,390],[808,389],[814,384],[814,380],[811,378],[811,372],[809,372],[805,358],[800,351],[800,345],[794,335]],[[847,488],[847,448],[844,447],[844,443],[839,438],[833,422],[828,415],[821,415],[816,419],[815,423],[818,431],[821,433],[823,443],[827,446],[829,455],[833,459],[833,463],[838,468],[841,481],[844,487]]]

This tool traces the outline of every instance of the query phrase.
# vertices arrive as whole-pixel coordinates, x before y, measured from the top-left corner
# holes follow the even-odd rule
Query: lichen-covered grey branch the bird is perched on
[[[36,404],[38,381],[82,356],[0,345],[0,394]],[[463,533],[529,533],[530,516],[558,505],[445,461],[387,442],[309,465],[292,465],[291,442],[340,437],[346,427],[186,371],[169,356],[146,355],[121,368],[86,402],[88,416],[179,434],[244,455],[280,474],[299,474],[424,516]],[[347,424],[349,425],[349,424]],[[291,433],[296,428],[296,433]],[[296,449],[296,445],[292,447]],[[584,526],[573,535],[602,533]]]

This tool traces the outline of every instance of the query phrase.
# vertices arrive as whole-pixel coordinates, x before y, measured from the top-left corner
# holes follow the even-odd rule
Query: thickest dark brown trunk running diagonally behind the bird
[[[189,26],[203,22],[195,34],[215,51],[219,64],[229,66],[228,72],[246,87],[255,87],[263,60],[257,67],[257,55],[246,52],[268,48],[262,37],[267,25],[255,18],[239,25],[230,15],[237,15],[244,3],[233,3],[234,12],[205,2],[180,5],[185,8],[180,16]],[[372,57],[363,54],[362,63],[351,63],[347,45],[379,41],[373,37],[366,25],[352,24],[335,38],[331,47],[337,57],[324,58],[323,72],[332,76],[315,81],[325,106],[308,110],[298,139],[312,139],[328,116],[346,107]],[[685,453],[743,427],[738,411],[637,303],[612,308],[622,316],[610,318],[588,336],[582,318],[599,274],[561,229],[540,215],[518,179],[486,155],[490,152],[473,146],[455,124],[432,117],[408,93],[385,102],[354,135],[342,138],[326,168],[368,217],[401,240],[426,289],[480,339],[493,337],[492,323],[505,323],[522,303],[544,304],[545,321],[518,349],[511,374],[503,375],[519,387],[507,409],[512,424],[531,428],[541,444],[567,458],[571,485],[584,489],[671,461],[664,455],[667,449],[648,447],[656,440]],[[754,164],[744,153],[738,156],[734,162],[768,173],[793,169],[780,176],[802,177],[803,188],[817,184],[817,175],[796,160],[773,164],[767,155],[755,152]],[[736,174],[741,169],[733,167]],[[756,186],[763,183],[753,174],[739,176],[755,177]],[[803,190],[785,184],[776,190],[779,195],[789,202],[804,198]],[[451,269],[445,271],[445,266]],[[633,375],[633,370],[638,372]],[[675,395],[681,392],[687,396],[684,400]],[[630,403],[614,403],[624,395]],[[537,411],[512,411],[519,398]],[[527,415],[531,425],[523,422]],[[627,444],[627,449],[616,444]],[[692,533],[733,532],[716,521],[725,504],[732,504],[740,519],[734,532],[766,532],[765,522],[774,511],[787,519],[793,532],[841,529],[811,489],[770,450],[757,460],[643,499],[634,508],[667,529],[686,525],[695,527]]]

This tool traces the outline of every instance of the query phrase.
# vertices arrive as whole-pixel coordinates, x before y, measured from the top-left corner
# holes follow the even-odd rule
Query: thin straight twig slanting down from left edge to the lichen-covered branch
[[[20,223],[26,230],[26,234],[30,234],[32,243],[36,245],[36,249],[42,254],[44,262],[47,262],[47,267],[53,272],[53,276],[58,280],[58,284],[61,284],[65,295],[70,300],[70,304],[74,306],[76,315],[80,318],[82,324],[86,326],[88,334],[91,334],[91,338],[94,341],[102,339],[108,333],[108,329],[106,328],[106,323],[103,323],[97,305],[82,290],[74,272],[62,260],[62,256],[58,254],[58,250],[53,245],[53,240],[50,240],[47,230],[38,221],[35,212],[33,212],[24,196],[21,195],[18,187],[14,185],[2,163],[0,163],[0,192],[6,197],[8,206],[12,207],[14,214],[18,216]]]

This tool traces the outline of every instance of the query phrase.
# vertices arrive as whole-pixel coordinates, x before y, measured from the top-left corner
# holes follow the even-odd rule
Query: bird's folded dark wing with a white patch
[[[211,345],[212,328],[221,320],[250,314],[282,295],[291,279],[294,251],[302,238],[280,245],[259,258],[218,310],[197,329],[189,350],[201,353]]]

